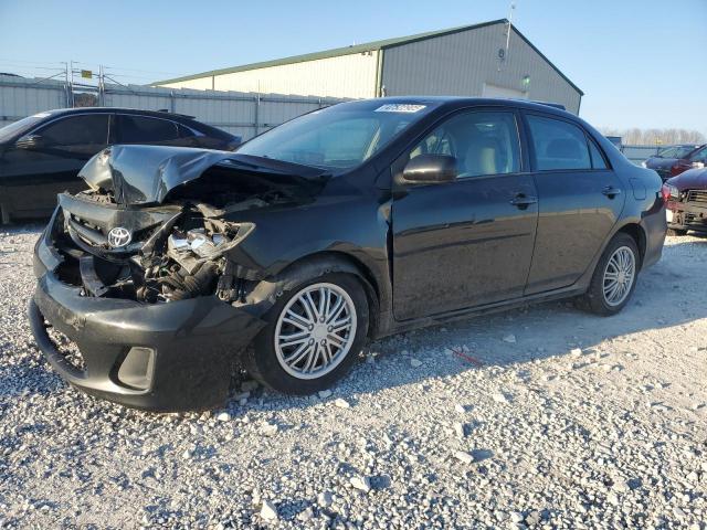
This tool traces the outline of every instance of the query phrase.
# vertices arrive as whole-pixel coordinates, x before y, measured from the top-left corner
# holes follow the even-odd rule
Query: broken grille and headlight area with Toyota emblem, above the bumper
[[[199,204],[126,211],[95,192],[62,194],[57,274],[82,296],[157,304],[217,295],[230,303],[253,273],[226,256],[254,229],[205,218]]]

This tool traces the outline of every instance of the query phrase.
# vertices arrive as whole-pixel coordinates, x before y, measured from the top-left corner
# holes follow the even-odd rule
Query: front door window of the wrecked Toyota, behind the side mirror
[[[458,178],[520,171],[520,144],[513,113],[472,112],[454,116],[428,135],[410,152],[451,155]]]

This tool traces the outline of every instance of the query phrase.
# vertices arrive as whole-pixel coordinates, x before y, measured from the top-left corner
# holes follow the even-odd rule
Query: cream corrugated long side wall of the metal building
[[[162,86],[365,98],[376,96],[378,51],[267,66]]]

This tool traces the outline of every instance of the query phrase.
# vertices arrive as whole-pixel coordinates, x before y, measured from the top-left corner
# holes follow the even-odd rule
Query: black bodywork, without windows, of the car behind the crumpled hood
[[[240,141],[228,132],[201,124],[188,116],[163,112],[87,107],[57,109],[41,114],[46,114],[46,117],[0,142],[0,213],[2,213],[3,222],[9,222],[11,219],[49,216],[56,205],[57,193],[62,191],[76,193],[84,189],[85,182],[78,178],[78,171],[94,155],[112,144],[130,144],[129,138],[120,132],[117,119],[119,116],[167,120],[175,124],[176,127],[181,126],[199,134],[199,136],[157,142],[158,145],[232,149]],[[107,136],[102,144],[32,149],[21,148],[17,145],[21,138],[41,131],[48,125],[55,124],[61,119],[85,115],[106,116],[108,121]]]

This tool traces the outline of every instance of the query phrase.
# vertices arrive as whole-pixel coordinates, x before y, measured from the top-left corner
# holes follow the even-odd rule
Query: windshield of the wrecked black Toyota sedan
[[[379,152],[430,109],[429,105],[344,104],[287,121],[236,152],[342,172]]]

